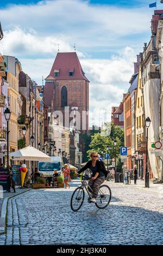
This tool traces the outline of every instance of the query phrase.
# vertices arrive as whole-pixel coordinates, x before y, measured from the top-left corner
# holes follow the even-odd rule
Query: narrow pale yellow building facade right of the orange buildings
[[[139,175],[141,178],[145,175],[145,159],[146,159],[146,138],[145,138],[145,115],[143,106],[141,65],[139,66],[139,74],[137,80],[137,95],[135,106],[135,149],[138,152],[137,164]]]

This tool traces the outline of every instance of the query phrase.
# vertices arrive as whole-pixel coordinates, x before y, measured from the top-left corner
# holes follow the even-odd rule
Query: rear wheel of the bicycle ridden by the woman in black
[[[111,200],[111,189],[107,185],[102,185],[99,188],[98,196],[96,198],[96,206],[99,209],[104,209],[106,206],[109,205]]]

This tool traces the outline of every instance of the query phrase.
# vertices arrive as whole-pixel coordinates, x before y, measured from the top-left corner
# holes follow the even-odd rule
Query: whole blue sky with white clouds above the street
[[[150,40],[154,8],[148,4],[152,2],[0,0],[4,32],[0,51],[16,56],[24,72],[41,84],[42,75],[46,78],[51,70],[58,44],[60,52],[74,51],[76,44],[91,81],[90,109],[97,113],[104,108],[110,119],[111,106],[118,105],[128,90],[136,54]]]

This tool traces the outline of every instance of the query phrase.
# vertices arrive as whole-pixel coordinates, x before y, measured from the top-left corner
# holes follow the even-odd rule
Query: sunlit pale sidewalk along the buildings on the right
[[[162,184],[154,184],[152,181],[149,182],[149,188],[145,187],[145,181],[142,180],[137,180],[136,181],[137,184],[134,184],[134,180],[131,180],[131,184],[130,185],[126,185],[123,183],[115,183],[119,186],[129,186],[130,188],[137,188],[137,189],[142,189],[142,190],[146,190],[149,192],[154,192],[154,193],[159,193],[162,194],[163,197],[163,183]]]

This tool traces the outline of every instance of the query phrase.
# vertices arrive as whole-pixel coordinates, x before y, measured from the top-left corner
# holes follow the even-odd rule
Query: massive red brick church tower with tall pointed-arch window
[[[51,72],[45,79],[43,90],[45,104],[48,111],[61,111],[65,122],[65,115],[71,113],[70,121],[77,118],[80,113],[80,128],[77,130],[85,133],[89,128],[89,80],[86,78],[76,52],[57,53]],[[65,111],[65,107],[67,110]],[[83,113],[87,112],[87,115]],[[82,116],[83,114],[83,116]],[[73,119],[75,120],[75,119]],[[82,123],[83,125],[82,129]]]

